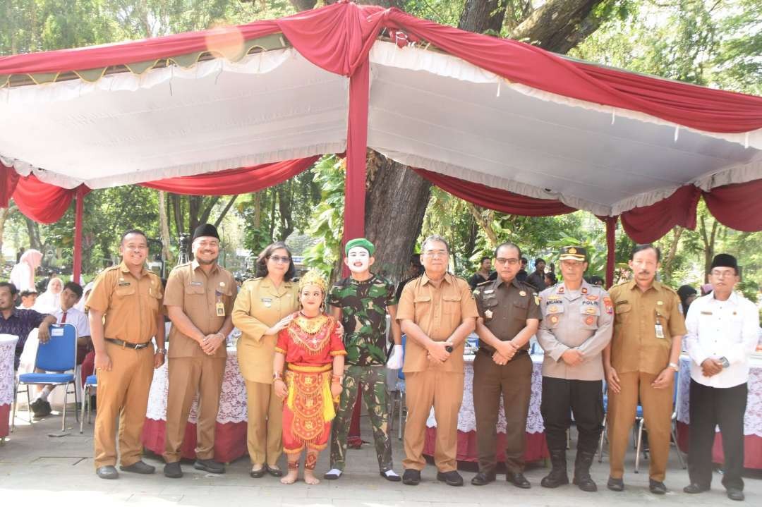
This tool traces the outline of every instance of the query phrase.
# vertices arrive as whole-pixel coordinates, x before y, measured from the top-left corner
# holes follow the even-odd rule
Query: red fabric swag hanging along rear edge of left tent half
[[[190,196],[232,196],[258,192],[306,171],[320,157],[296,158],[273,164],[239,167],[217,173],[165,178],[140,183],[143,187]]]

